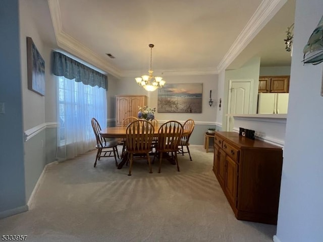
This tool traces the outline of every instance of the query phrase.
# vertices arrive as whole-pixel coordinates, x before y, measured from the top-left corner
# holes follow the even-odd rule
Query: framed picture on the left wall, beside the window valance
[[[28,89],[45,96],[45,62],[32,38],[27,37]]]

